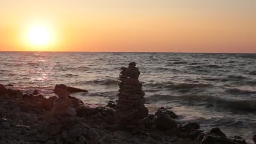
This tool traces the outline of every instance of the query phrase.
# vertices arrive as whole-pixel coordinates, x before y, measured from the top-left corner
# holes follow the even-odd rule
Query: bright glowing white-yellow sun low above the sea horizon
[[[27,28],[25,43],[31,47],[47,47],[53,43],[53,32],[47,25],[35,24]]]

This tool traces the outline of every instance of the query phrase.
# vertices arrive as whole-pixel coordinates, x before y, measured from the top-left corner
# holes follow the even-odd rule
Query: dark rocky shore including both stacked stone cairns
[[[117,103],[106,107],[88,107],[70,96],[88,91],[63,84],[48,98],[0,85],[0,144],[246,144],[219,128],[205,132],[197,123],[178,125],[178,116],[164,107],[148,114],[135,66],[121,68]]]

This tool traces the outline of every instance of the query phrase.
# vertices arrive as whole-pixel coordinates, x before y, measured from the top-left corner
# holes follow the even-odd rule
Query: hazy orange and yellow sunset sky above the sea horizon
[[[0,0],[0,51],[256,53],[256,0]]]

